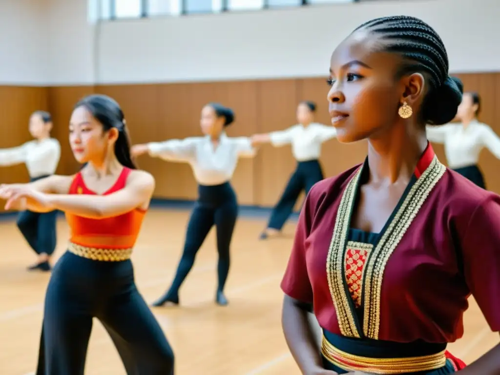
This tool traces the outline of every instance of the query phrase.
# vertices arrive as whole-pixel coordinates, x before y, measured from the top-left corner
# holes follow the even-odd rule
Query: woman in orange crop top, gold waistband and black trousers
[[[68,251],[47,286],[36,375],[82,375],[92,318],[113,340],[128,374],[173,374],[173,352],[139,294],[130,253],[154,178],[130,158],[123,112],[104,95],[78,102],[69,123],[74,176],[0,186],[5,207],[65,211]]]

